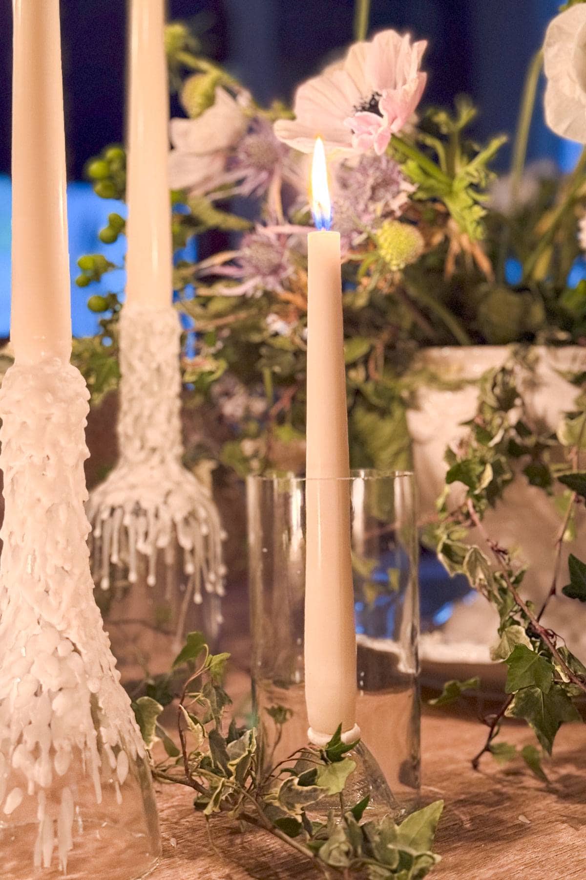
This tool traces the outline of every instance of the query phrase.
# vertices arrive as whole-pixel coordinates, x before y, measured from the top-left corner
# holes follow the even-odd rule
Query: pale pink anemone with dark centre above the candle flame
[[[427,75],[420,70],[425,40],[382,31],[358,42],[341,63],[307,80],[295,93],[295,119],[279,120],[275,133],[302,152],[321,136],[327,150],[378,155],[401,131],[423,95]]]

